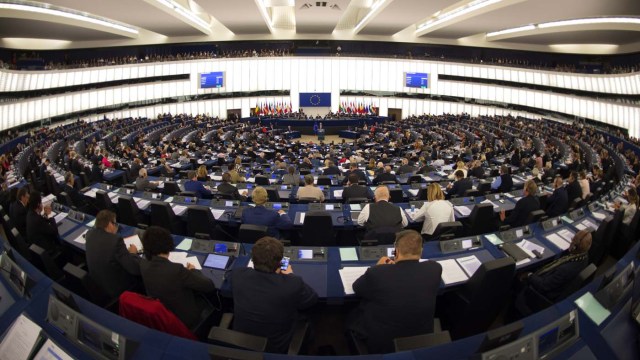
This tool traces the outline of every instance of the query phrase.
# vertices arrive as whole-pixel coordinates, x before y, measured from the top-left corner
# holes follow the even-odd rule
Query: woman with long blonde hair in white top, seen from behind
[[[444,199],[444,194],[437,183],[429,184],[427,188],[427,202],[412,214],[413,220],[424,219],[422,224],[423,235],[433,235],[433,232],[442,222],[456,221],[453,213],[453,205]]]

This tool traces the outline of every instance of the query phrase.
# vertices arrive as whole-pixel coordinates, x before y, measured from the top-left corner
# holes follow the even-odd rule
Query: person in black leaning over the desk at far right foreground
[[[589,231],[578,231],[571,240],[567,255],[545,265],[535,273],[527,273],[524,279],[547,299],[558,299],[564,288],[589,265],[591,241]]]

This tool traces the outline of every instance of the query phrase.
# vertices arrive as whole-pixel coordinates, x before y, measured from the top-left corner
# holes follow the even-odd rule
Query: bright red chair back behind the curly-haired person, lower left
[[[125,291],[120,295],[120,316],[167,334],[197,340],[197,337],[159,300]]]

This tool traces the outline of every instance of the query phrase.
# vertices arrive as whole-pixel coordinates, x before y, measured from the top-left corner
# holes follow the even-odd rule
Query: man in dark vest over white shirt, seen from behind
[[[374,229],[387,228],[400,231],[409,224],[407,216],[400,207],[389,202],[389,188],[381,185],[374,192],[375,203],[364,206],[358,216],[358,225],[369,232]]]

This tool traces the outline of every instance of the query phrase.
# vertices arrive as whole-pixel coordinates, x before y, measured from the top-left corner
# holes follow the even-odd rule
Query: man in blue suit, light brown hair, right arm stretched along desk
[[[267,190],[258,186],[253,190],[251,199],[256,204],[255,207],[248,207],[242,212],[242,223],[252,225],[264,225],[269,229],[267,234],[279,237],[279,230],[291,229],[293,222],[284,210],[271,210],[264,207],[268,200]]]

